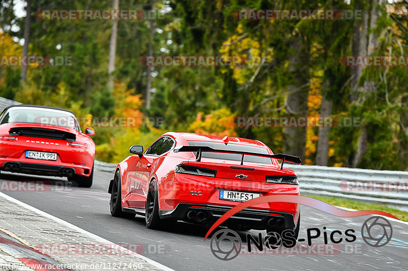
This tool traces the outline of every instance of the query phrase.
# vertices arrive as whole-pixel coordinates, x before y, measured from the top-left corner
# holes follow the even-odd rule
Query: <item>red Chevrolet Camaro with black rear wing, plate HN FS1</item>
[[[115,217],[144,215],[148,228],[181,220],[212,224],[227,210],[256,197],[299,194],[293,170],[258,140],[169,132],[143,153],[133,145],[109,185]],[[236,230],[299,231],[299,204],[263,203],[246,208],[223,226]]]

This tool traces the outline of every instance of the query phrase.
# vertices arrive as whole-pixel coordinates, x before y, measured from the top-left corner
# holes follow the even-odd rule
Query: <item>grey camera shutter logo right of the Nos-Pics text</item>
[[[379,248],[390,242],[392,237],[391,223],[382,217],[371,217],[361,227],[361,236],[367,245]]]

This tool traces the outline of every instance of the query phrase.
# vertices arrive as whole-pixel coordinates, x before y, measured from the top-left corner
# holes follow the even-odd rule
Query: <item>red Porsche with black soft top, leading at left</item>
[[[0,169],[65,176],[91,187],[95,143],[91,128],[81,132],[69,110],[13,105],[0,115]]]

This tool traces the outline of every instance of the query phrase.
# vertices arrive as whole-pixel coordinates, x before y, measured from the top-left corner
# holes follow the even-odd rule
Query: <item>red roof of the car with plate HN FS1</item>
[[[211,136],[211,135],[201,135],[201,134],[196,134],[196,133],[176,133],[176,132],[168,132],[165,133],[164,135],[170,135],[173,136],[174,138],[179,138],[179,139],[184,139],[186,141],[207,141],[207,142],[220,142],[224,143],[222,139],[224,138],[223,136]],[[228,143],[233,143],[233,144],[242,144],[242,145],[251,145],[251,146],[257,146],[257,147],[268,147],[266,144],[259,140],[252,140],[252,139],[247,139],[247,138],[242,138],[242,137],[235,137],[235,136],[228,136]]]

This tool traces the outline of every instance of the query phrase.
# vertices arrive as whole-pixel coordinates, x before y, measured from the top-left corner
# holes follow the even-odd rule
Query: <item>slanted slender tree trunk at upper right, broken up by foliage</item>
[[[377,5],[381,4],[381,0],[374,0],[370,10],[370,35],[368,36],[368,48],[367,48],[367,55],[371,55],[375,48],[378,46],[378,37],[376,37],[373,33],[373,29],[376,27],[377,19],[380,16],[380,12],[377,11]],[[375,83],[373,80],[365,80],[363,86],[363,95],[375,91]],[[367,142],[368,141],[368,133],[367,127],[363,126],[361,128],[361,132],[359,135],[358,143],[357,143],[357,151],[354,156],[353,160],[353,167],[357,167],[361,162],[364,153],[367,150]]]

